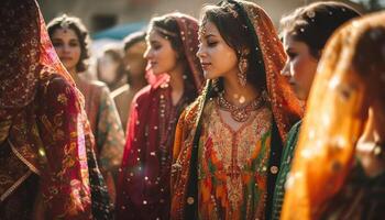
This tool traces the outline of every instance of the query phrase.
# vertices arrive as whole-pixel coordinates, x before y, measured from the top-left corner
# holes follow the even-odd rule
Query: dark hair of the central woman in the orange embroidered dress
[[[256,74],[258,73],[256,70],[258,67],[257,62],[254,62],[257,59],[253,50],[255,48],[253,36],[250,30],[248,30],[246,21],[243,21],[235,6],[229,2],[223,2],[221,6],[206,6],[200,14],[200,32],[206,22],[212,22],[224,42],[237,52],[238,58],[240,58],[243,50],[250,50],[245,57],[249,61],[246,79],[254,85],[256,89],[265,89],[266,76]],[[221,78],[219,78],[215,87],[219,90],[223,89]]]

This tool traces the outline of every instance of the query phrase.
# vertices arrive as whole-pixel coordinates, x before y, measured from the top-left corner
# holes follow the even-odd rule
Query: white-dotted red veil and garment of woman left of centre
[[[182,13],[172,13],[177,21],[188,64],[184,99],[198,95],[202,72],[196,57],[198,22]],[[180,112],[172,106],[168,75],[152,77],[132,102],[128,141],[118,180],[118,219],[168,219],[169,172],[176,120]],[[186,99],[186,97],[189,97]],[[169,121],[175,120],[173,127]],[[170,141],[169,141],[170,140]]]

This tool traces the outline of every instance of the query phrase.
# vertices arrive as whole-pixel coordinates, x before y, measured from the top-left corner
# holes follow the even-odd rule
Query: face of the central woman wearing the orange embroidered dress
[[[212,22],[207,21],[204,24],[199,42],[197,56],[207,79],[226,77],[230,73],[239,72],[235,51],[226,43]]]

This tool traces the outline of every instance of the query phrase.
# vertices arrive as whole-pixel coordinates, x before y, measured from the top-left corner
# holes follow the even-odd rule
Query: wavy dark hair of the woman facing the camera
[[[84,23],[80,21],[79,18],[67,16],[66,14],[63,14],[62,16],[57,16],[53,19],[47,24],[50,37],[52,38],[56,30],[64,29],[64,28],[73,30],[76,33],[80,43],[80,59],[76,65],[76,70],[77,72],[87,70],[87,67],[88,67],[87,59],[89,58],[90,38],[86,26],[84,25]]]

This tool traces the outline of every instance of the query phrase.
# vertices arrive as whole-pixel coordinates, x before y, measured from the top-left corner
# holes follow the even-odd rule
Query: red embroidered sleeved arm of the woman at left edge
[[[38,94],[45,157],[41,190],[47,219],[91,219],[86,143],[77,91],[59,77]]]

